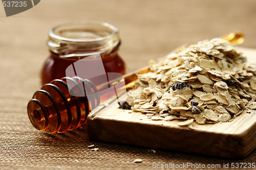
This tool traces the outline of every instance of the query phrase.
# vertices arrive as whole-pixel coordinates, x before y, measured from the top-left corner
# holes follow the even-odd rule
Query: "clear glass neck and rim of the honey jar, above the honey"
[[[60,58],[115,54],[120,46],[118,29],[97,21],[72,22],[49,31],[49,50]]]

